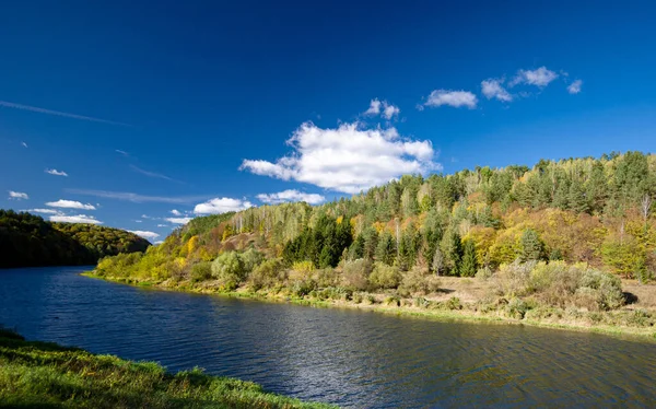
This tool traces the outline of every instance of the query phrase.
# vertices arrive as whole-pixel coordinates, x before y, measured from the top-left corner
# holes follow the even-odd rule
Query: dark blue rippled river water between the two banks
[[[343,407],[656,406],[655,343],[143,290],[83,270],[0,270],[0,324]]]

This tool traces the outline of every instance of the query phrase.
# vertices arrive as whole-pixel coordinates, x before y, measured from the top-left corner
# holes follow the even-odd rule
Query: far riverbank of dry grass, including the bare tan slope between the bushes
[[[112,278],[93,271],[85,277],[168,291],[214,294],[269,302],[286,302],[316,307],[340,307],[375,313],[413,316],[438,320],[464,320],[502,325],[527,325],[534,327],[598,332],[656,341],[656,313],[651,304],[630,305],[620,309],[588,312],[576,308],[558,308],[526,302],[519,299],[489,299],[485,283],[478,279],[442,278],[440,292],[424,296],[401,297],[394,292],[348,292],[341,289],[324,289],[297,296],[284,288],[251,291],[242,287],[223,291],[212,281],[190,281]],[[653,290],[653,291],[652,291]],[[643,289],[643,291],[645,291]],[[652,287],[651,292],[656,292]]]

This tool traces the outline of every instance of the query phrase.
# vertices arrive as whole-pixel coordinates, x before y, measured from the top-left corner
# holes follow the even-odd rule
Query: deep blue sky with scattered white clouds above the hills
[[[654,2],[440,3],[3,4],[0,207],[155,242],[403,172],[653,151]]]

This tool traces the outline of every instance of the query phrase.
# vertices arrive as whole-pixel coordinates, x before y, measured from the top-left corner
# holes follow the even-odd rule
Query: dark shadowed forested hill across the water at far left
[[[54,223],[0,209],[0,268],[94,265],[105,256],[145,252],[150,243],[124,230]]]

